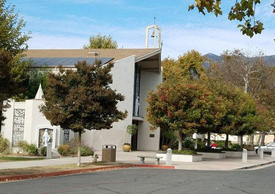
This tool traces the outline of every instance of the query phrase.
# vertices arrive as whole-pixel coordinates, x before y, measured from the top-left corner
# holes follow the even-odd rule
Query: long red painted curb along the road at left
[[[10,180],[23,180],[23,179],[30,179],[30,178],[44,178],[44,177],[55,177],[55,176],[62,176],[62,175],[73,175],[78,173],[87,173],[87,172],[94,172],[99,170],[111,170],[116,168],[131,168],[131,167],[136,167],[136,165],[124,164],[124,165],[106,166],[106,167],[98,167],[98,168],[86,168],[86,169],[67,170],[67,171],[59,171],[59,172],[51,172],[51,173],[40,173],[40,174],[34,174],[34,175],[15,175],[15,176],[8,176],[8,177],[0,177],[0,182],[10,181]]]

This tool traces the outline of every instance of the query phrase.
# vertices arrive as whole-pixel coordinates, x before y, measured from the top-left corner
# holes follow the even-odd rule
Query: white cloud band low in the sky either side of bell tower
[[[74,22],[74,21],[72,21]],[[49,29],[58,25],[46,23]],[[68,23],[64,25],[69,25]],[[63,26],[61,24],[61,26]],[[187,24],[185,26],[162,26],[163,52],[162,57],[177,57],[187,50],[196,49],[202,54],[212,52],[219,55],[225,49],[242,49],[248,46],[251,49],[262,49],[266,54],[275,54],[275,30],[265,30],[262,34],[253,38],[243,36],[238,29],[203,28]],[[88,31],[87,31],[88,30]],[[73,26],[72,29],[64,29],[57,35],[47,33],[33,33],[29,41],[30,49],[80,49],[88,43],[89,36],[101,32],[111,34],[123,48],[144,48],[145,27],[128,29],[113,26],[110,28],[90,24],[84,29]],[[72,33],[74,32],[74,33]],[[69,34],[69,35],[68,35]]]

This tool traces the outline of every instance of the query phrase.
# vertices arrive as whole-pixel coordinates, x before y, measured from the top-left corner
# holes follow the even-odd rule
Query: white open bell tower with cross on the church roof
[[[149,32],[152,31],[152,35],[149,37]],[[149,38],[153,38],[153,49],[161,48],[161,28],[155,25],[155,17],[154,17],[154,24],[151,26],[148,26],[146,28],[145,33],[145,48],[149,49]]]

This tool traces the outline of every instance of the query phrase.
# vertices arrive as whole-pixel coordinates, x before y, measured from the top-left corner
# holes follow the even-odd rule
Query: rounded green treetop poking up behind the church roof
[[[113,40],[111,35],[92,35],[89,39],[89,44],[84,45],[83,49],[117,49],[118,43],[116,40]]]

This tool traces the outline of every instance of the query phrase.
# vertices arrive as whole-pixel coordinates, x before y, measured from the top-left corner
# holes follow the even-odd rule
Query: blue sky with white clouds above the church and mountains
[[[222,4],[223,16],[203,16],[197,10],[188,12],[194,0],[8,0],[15,4],[31,31],[29,49],[81,49],[89,37],[101,32],[112,35],[123,48],[144,48],[145,28],[153,23],[162,28],[162,56],[177,57],[187,50],[219,55],[225,49],[261,49],[275,54],[275,14],[262,0],[256,18],[265,30],[252,39],[229,21],[227,13],[232,0]]]

